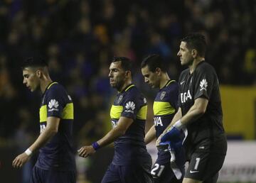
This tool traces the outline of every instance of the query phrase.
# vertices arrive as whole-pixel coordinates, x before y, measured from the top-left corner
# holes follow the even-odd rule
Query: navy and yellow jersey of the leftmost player
[[[36,166],[43,170],[75,170],[73,131],[73,101],[64,87],[52,82],[42,96],[40,108],[41,133],[47,126],[47,118],[60,118],[58,133],[40,149]]]

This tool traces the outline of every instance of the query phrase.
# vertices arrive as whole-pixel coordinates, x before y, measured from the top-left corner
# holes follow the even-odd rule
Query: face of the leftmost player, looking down
[[[36,75],[36,70],[33,70],[31,67],[23,69],[23,84],[25,84],[32,92],[38,89],[40,80]]]

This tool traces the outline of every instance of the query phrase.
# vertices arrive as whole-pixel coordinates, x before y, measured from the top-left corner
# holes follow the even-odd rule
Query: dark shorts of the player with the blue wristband
[[[150,168],[147,165],[121,166],[111,163],[102,179],[102,183],[153,183]]]

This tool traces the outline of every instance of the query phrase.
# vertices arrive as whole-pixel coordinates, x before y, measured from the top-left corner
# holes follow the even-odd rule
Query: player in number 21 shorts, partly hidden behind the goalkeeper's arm
[[[160,55],[149,55],[142,61],[144,81],[159,91],[154,99],[154,125],[146,133],[145,143],[148,144],[163,133],[171,123],[178,107],[178,82],[171,80]],[[171,169],[171,155],[168,151],[159,150],[157,160],[151,169],[154,182],[182,182],[184,175],[185,157],[182,146],[176,149],[176,165],[178,171]],[[174,174],[175,172],[175,174]]]

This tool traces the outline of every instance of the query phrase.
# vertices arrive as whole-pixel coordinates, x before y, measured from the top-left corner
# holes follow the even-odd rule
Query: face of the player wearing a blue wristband
[[[120,91],[125,82],[126,72],[121,67],[121,62],[112,62],[110,65],[110,85]]]

